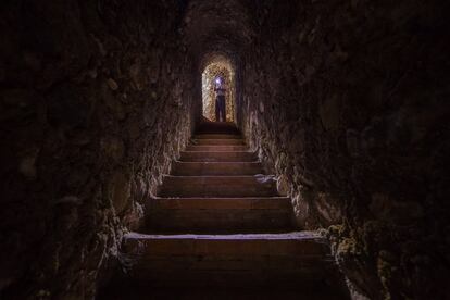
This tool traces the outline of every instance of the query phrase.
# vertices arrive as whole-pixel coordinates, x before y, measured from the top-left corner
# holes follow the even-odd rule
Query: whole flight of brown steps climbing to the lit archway
[[[145,228],[124,237],[136,295],[151,287],[151,299],[345,299],[326,240],[296,232],[290,199],[263,173],[233,124],[203,124],[148,201]]]

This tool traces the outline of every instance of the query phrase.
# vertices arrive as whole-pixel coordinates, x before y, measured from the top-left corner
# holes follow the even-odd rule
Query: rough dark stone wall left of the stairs
[[[0,298],[93,297],[200,112],[182,13],[2,2]]]

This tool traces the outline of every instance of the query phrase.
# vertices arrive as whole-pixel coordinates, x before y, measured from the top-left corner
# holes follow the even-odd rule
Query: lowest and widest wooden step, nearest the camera
[[[124,236],[133,278],[157,287],[302,286],[333,266],[326,240],[310,232]]]

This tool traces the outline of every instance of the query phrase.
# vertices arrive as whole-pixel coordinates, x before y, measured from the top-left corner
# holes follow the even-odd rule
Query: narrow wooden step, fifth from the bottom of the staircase
[[[182,151],[184,162],[254,162],[257,155],[249,151]]]

